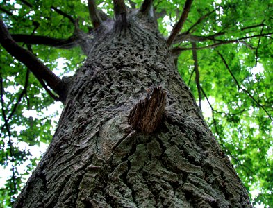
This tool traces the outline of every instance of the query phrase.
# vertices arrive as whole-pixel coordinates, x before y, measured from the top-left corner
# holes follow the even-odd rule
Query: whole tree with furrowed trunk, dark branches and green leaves
[[[16,166],[29,155],[15,146],[14,125],[29,126],[32,137],[28,130],[17,137],[31,145],[37,137],[49,140],[43,132],[49,128],[49,120],[44,123],[19,115],[33,106],[41,111],[51,98],[65,105],[47,153],[15,207],[250,207],[247,191],[226,154],[233,158],[247,188],[251,187],[246,183],[249,180],[262,182],[264,188],[256,202],[270,205],[272,154],[268,151],[272,139],[266,139],[272,134],[270,3],[185,1],[179,6],[176,2],[155,2],[153,10],[151,1],[129,1],[128,6],[124,1],[114,1],[113,14],[108,11],[107,15],[91,0],[88,7],[79,2],[4,3],[0,8],[3,22],[11,28],[1,21],[1,45],[31,71],[22,69],[13,80],[11,77],[24,67],[1,49],[3,64],[18,65],[1,71],[1,130],[6,137],[1,157],[12,164],[12,196],[20,183]],[[108,1],[104,4],[112,5]],[[254,15],[256,12],[258,15]],[[166,17],[177,20],[169,35],[162,27]],[[157,26],[156,20],[162,19]],[[53,60],[61,56],[72,59],[78,49],[60,49],[76,46],[85,53],[85,63],[74,76],[58,78],[49,70],[53,69]],[[35,54],[53,64],[47,67]],[[72,59],[70,67],[78,60],[78,56]],[[258,63],[263,64],[264,71],[254,79],[248,67]],[[189,85],[199,107],[175,64],[184,79],[191,80],[191,73],[195,73],[197,87]],[[4,89],[14,83],[22,86],[15,102]],[[225,88],[215,90],[216,85]],[[31,99],[41,88],[51,98],[42,92],[44,96],[38,101]],[[233,103],[215,107],[208,95],[219,102]],[[199,108],[204,98],[213,112],[209,122],[226,153],[201,116]],[[249,110],[254,116],[245,119]],[[254,141],[244,137],[247,125],[242,125],[242,120],[249,123],[249,138]],[[225,126],[226,121],[229,125]],[[255,123],[260,125],[260,132]],[[235,132],[230,136],[233,141],[226,141],[223,135],[231,135],[229,129],[241,130],[241,135]],[[252,148],[245,147],[247,142]],[[233,143],[237,147],[231,147]],[[252,156],[245,157],[246,153]],[[262,158],[255,159],[254,154]],[[263,180],[251,175],[256,169]]]

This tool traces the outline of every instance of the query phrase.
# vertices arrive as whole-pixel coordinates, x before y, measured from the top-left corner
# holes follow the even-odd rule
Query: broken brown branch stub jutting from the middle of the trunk
[[[162,87],[148,89],[146,98],[131,109],[129,123],[140,132],[154,132],[163,119],[166,103],[167,92]]]

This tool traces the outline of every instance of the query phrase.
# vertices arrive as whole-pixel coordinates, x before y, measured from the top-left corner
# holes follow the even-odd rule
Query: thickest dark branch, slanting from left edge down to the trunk
[[[58,78],[52,71],[50,71],[40,60],[38,60],[33,53],[19,46],[8,33],[8,29],[0,19],[0,43],[3,48],[13,55],[17,60],[24,63],[28,69],[37,77],[47,82],[47,85],[58,94],[60,101],[65,101],[66,85],[63,80]]]

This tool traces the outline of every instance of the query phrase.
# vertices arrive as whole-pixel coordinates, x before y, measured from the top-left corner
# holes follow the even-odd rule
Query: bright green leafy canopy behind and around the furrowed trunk
[[[141,3],[126,1],[131,8],[140,8]],[[65,96],[58,92],[62,82],[58,77],[52,80],[49,69],[56,69],[64,60],[62,73],[75,71],[87,52],[81,35],[95,33],[101,21],[114,16],[112,2],[98,1],[97,5],[106,14],[96,9],[94,1],[1,2],[1,19],[13,40],[22,46],[2,41],[8,37],[2,24],[1,164],[11,171],[6,187],[1,189],[6,205],[15,200],[23,185],[24,173],[18,166],[31,159],[28,148],[22,145],[51,140],[52,117],[44,116],[44,109]],[[179,73],[199,107],[205,103],[202,101],[209,103],[212,116],[208,124],[245,187],[258,190],[254,204],[272,206],[272,3],[193,2],[185,5],[190,10],[188,17],[185,10],[181,15],[183,6],[184,2],[155,1],[158,29],[172,44]],[[175,22],[180,27],[174,26]],[[29,110],[37,111],[39,117],[24,116]],[[202,110],[207,112],[208,108]],[[35,161],[31,159],[26,173]]]

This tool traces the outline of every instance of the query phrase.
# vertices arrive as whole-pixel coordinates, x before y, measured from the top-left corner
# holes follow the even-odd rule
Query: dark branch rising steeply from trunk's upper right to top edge
[[[185,20],[188,17],[188,13],[190,12],[190,6],[192,5],[193,0],[186,0],[185,5],[183,8],[182,15],[179,19],[179,21],[175,24],[174,28],[172,29],[171,35],[169,35],[167,39],[167,44],[170,46],[172,45],[172,42],[174,41],[174,38],[177,34],[181,31],[181,28],[183,28],[183,24],[185,23]]]

